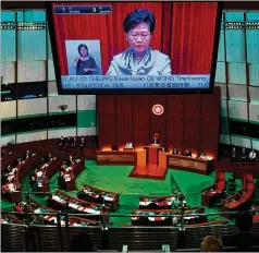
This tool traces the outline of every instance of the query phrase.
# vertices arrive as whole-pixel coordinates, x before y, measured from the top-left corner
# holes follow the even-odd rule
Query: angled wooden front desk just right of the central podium
[[[214,167],[214,160],[206,160],[181,155],[168,155],[168,167],[195,173],[208,174]]]

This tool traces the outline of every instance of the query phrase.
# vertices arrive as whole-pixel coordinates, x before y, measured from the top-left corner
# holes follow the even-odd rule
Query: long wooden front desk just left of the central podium
[[[136,165],[137,152],[102,152],[97,150],[97,165]]]

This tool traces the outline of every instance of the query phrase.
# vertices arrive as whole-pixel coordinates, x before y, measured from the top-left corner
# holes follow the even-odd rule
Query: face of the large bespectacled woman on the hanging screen
[[[145,52],[152,39],[152,35],[149,32],[149,24],[146,22],[139,23],[127,33],[126,38],[135,52]]]

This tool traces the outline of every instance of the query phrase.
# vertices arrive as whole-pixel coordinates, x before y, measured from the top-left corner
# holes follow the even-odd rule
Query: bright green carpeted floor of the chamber
[[[128,178],[133,166],[97,166],[96,161],[87,160],[85,169],[76,178],[76,189],[82,189],[84,184],[120,193],[120,207],[114,214],[131,214],[132,209],[138,208],[139,196],[166,196],[172,191],[178,190],[185,194],[189,206],[201,205],[201,190],[209,186],[214,181],[214,172],[209,176],[197,174],[181,170],[169,169],[163,181],[151,179]],[[49,181],[50,192],[58,188],[58,173]],[[227,173],[226,177],[231,177]],[[28,192],[28,176],[22,183],[22,191]],[[237,180],[237,189],[240,180]],[[76,196],[76,191],[66,192],[71,196]],[[26,197],[26,194],[24,194]],[[46,205],[46,197],[40,195],[36,200]],[[13,210],[13,204],[2,201],[2,208]],[[220,212],[220,208],[207,208],[207,213]],[[221,219],[222,216],[209,216],[209,220]],[[130,217],[112,217],[114,226],[130,225]]]

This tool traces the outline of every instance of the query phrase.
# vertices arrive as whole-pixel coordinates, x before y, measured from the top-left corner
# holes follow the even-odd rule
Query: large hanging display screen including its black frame
[[[51,2],[60,94],[211,92],[218,2]]]

